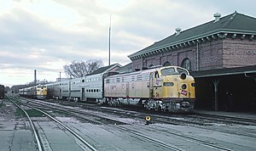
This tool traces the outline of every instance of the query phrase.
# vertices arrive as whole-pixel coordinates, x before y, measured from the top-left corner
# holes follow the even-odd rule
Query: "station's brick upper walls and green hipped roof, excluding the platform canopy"
[[[128,57],[132,68],[175,64],[188,70],[256,65],[256,19],[237,12],[154,42]]]

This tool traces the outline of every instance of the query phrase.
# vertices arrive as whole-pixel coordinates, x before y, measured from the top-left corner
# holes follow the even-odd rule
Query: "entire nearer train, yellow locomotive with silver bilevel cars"
[[[48,98],[111,106],[135,105],[168,112],[189,112],[195,105],[195,79],[179,66],[119,74],[98,73],[44,85]]]

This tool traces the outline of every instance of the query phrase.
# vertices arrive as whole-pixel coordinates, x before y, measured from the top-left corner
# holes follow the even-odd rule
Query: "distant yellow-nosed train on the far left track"
[[[45,99],[47,98],[47,87],[37,85],[32,87],[20,88],[19,95],[28,98]]]

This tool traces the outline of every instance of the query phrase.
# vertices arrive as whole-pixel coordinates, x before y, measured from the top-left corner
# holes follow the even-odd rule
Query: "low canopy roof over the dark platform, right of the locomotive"
[[[195,78],[213,77],[213,76],[232,76],[232,75],[241,75],[241,74],[247,74],[247,75],[253,74],[254,76],[256,76],[256,65],[190,72],[190,75],[194,76]]]

